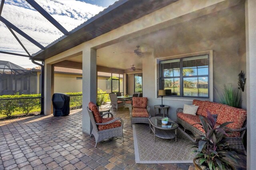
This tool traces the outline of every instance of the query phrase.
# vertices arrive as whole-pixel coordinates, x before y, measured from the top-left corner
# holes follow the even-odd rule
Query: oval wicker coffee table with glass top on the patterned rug
[[[151,130],[154,132],[155,142],[156,136],[164,139],[175,138],[175,141],[177,142],[177,130],[179,125],[170,119],[167,125],[162,125],[162,118],[164,117],[151,117],[149,119],[150,133]]]

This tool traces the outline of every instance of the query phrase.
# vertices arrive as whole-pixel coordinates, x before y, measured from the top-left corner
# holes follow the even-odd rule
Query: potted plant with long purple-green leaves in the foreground
[[[200,166],[210,170],[235,169],[231,161],[237,163],[238,156],[236,152],[227,148],[228,143],[225,140],[226,135],[231,133],[226,125],[232,122],[226,122],[214,128],[217,115],[211,115],[209,111],[207,111],[207,117],[199,115],[199,118],[201,121],[199,125],[204,129],[204,135],[196,136],[197,140],[192,146],[196,148],[193,151],[196,153],[193,160],[195,169],[204,169]]]

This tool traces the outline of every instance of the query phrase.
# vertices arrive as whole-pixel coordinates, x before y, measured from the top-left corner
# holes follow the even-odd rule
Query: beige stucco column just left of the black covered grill
[[[52,113],[52,65],[44,65],[44,115]]]

